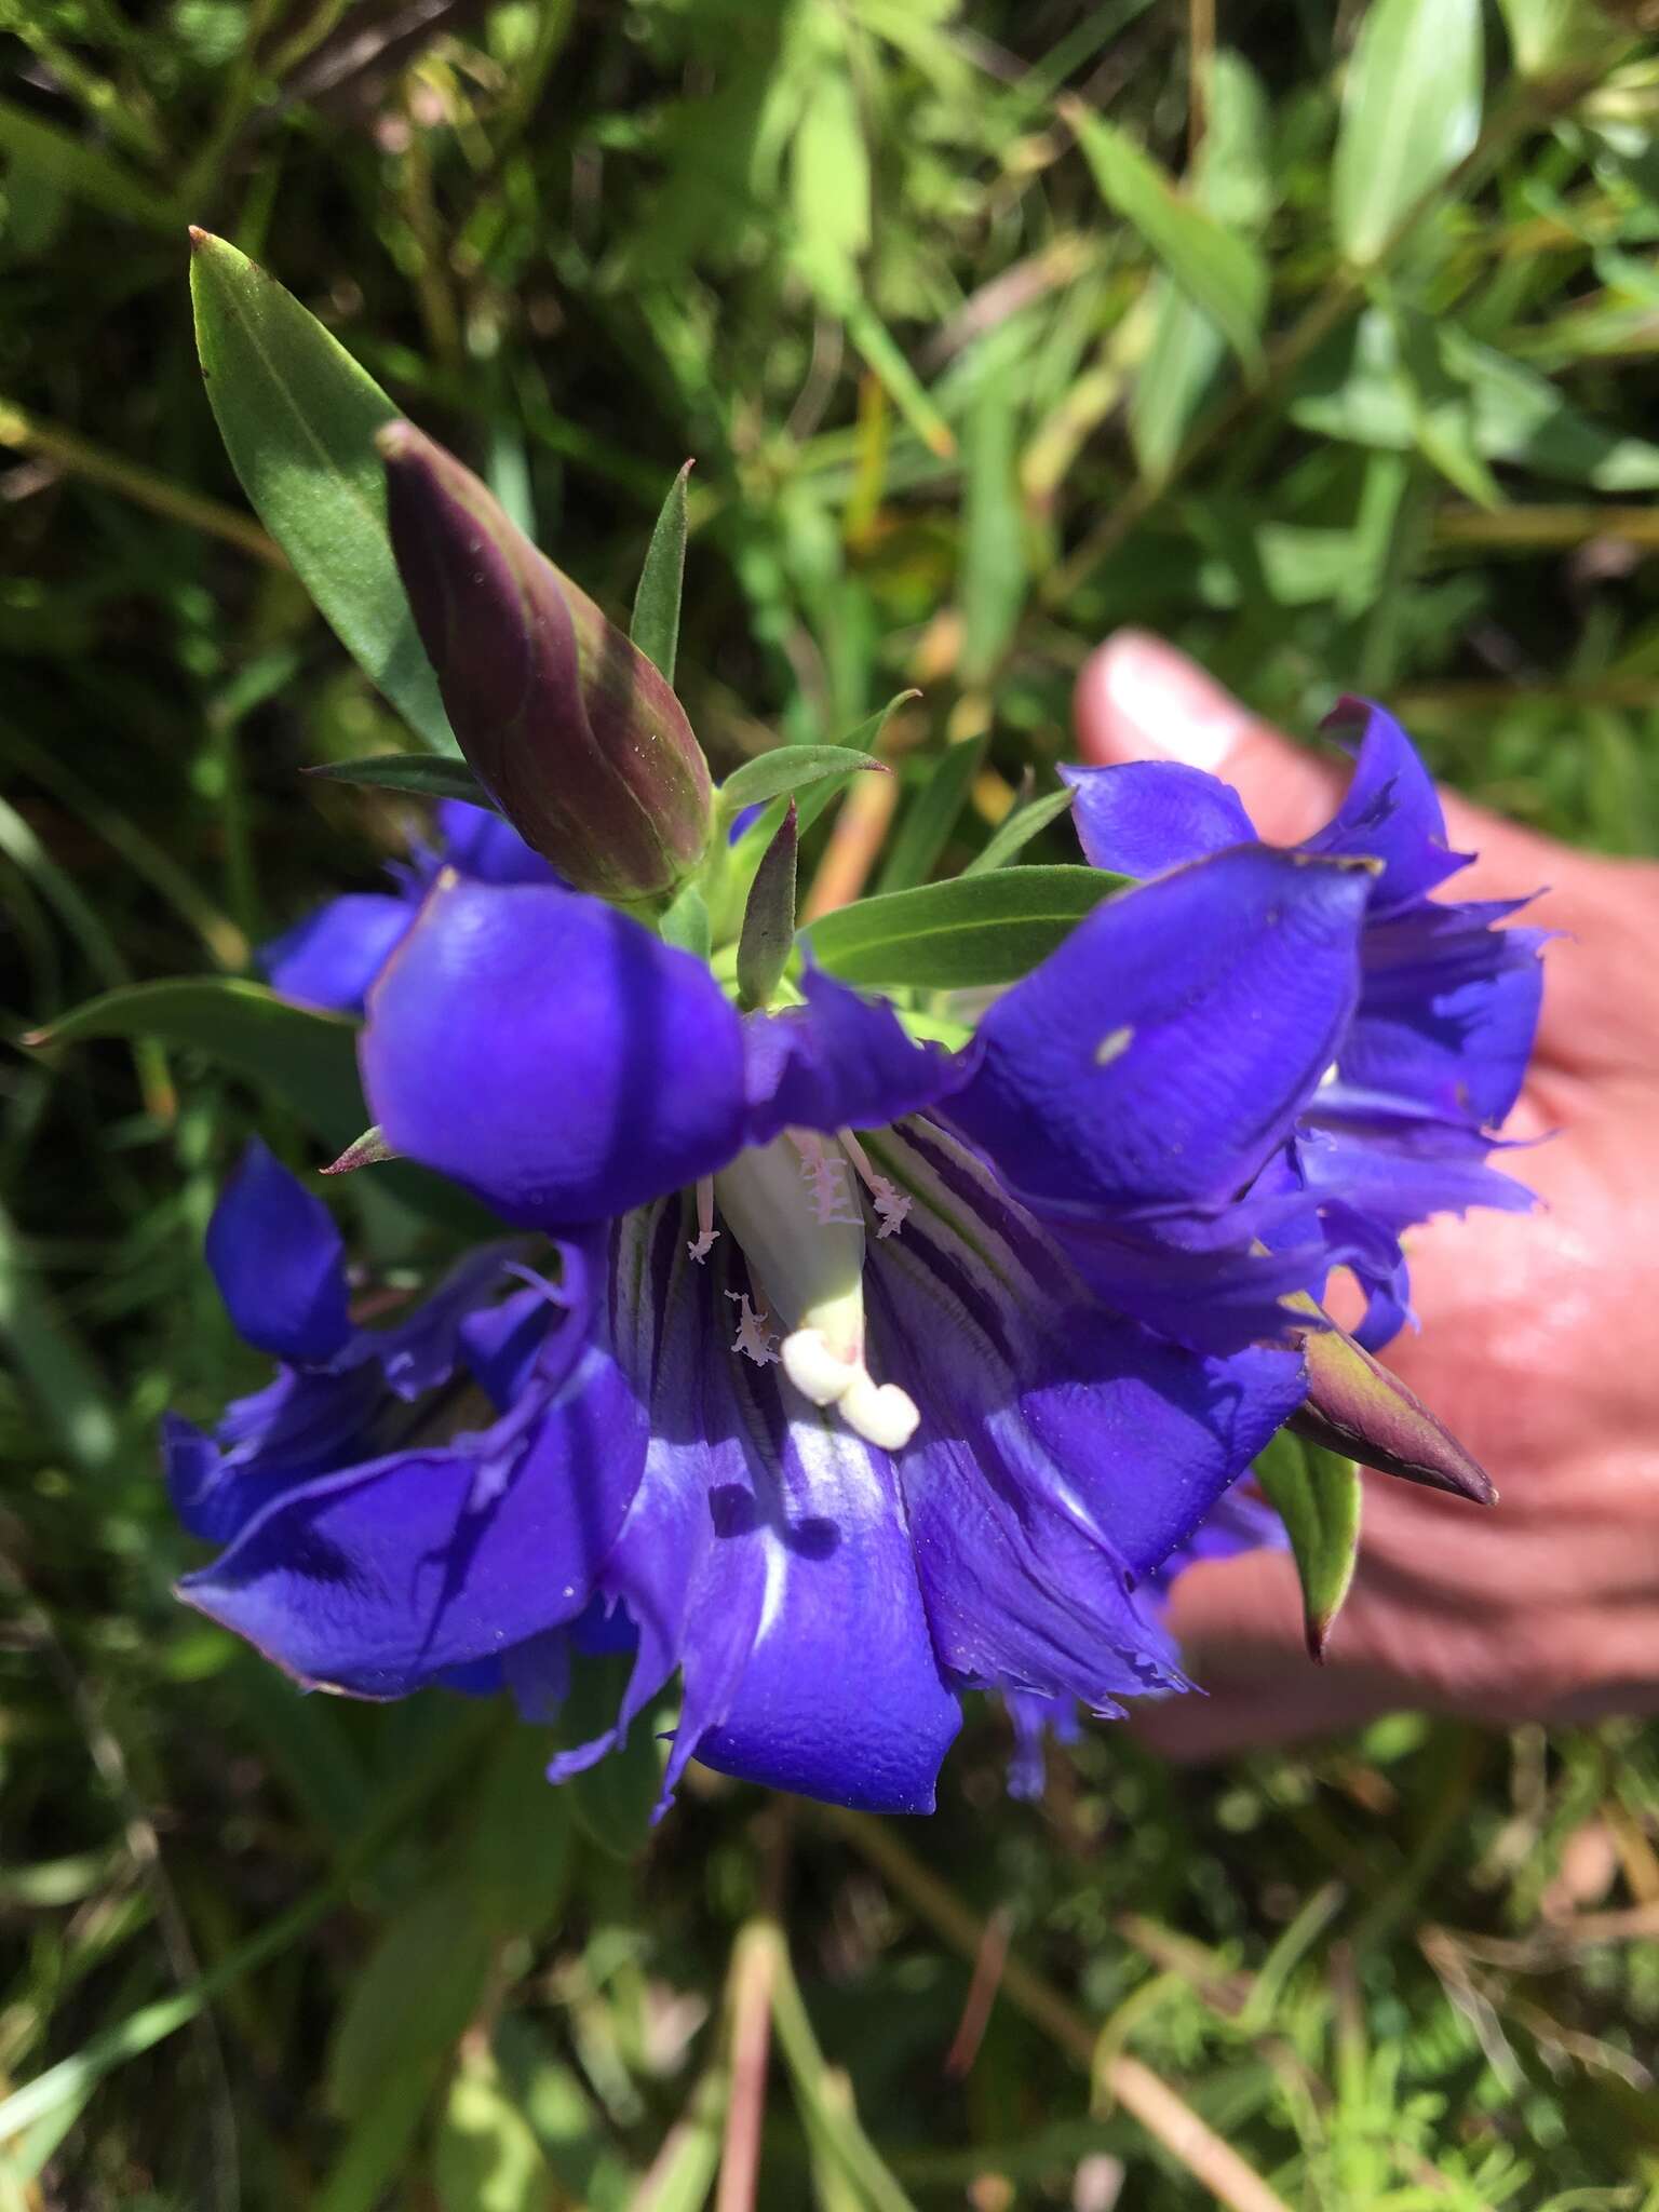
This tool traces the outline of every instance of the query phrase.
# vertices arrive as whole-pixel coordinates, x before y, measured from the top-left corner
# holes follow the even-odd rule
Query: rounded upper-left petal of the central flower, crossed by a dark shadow
[[[507,1221],[602,1221],[743,1144],[743,1033],[708,969],[575,891],[442,874],[369,995],[387,1141]]]

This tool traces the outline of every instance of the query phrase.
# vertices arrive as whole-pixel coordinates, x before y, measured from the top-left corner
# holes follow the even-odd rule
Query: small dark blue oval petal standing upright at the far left
[[[237,1332],[261,1352],[316,1365],[345,1343],[341,1232],[259,1137],[212,1210],[208,1267]]]

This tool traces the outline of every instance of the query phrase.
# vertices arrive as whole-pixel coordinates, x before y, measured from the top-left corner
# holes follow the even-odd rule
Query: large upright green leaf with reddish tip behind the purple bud
[[[387,535],[374,434],[398,409],[274,276],[190,237],[201,374],[243,491],[345,650],[434,752],[453,752]]]

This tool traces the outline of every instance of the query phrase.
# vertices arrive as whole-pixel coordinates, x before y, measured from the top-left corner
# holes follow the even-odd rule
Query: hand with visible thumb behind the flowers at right
[[[1338,754],[1292,745],[1144,633],[1088,659],[1075,706],[1084,761],[1206,768],[1272,843],[1325,823],[1345,781]],[[1385,1352],[1500,1502],[1367,1475],[1325,1666],[1305,1655],[1287,1555],[1188,1568],[1170,1624],[1208,1694],[1137,1714],[1172,1756],[1400,1710],[1493,1723],[1659,1712],[1659,867],[1573,852],[1451,792],[1444,807],[1451,845],[1480,858],[1442,896],[1537,891],[1522,918],[1559,931],[1504,1128],[1542,1141],[1498,1161],[1540,1203],[1413,1232],[1422,1329]]]

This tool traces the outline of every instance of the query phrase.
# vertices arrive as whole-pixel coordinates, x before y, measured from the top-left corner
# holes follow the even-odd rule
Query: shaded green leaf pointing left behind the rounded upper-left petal
[[[234,975],[188,975],[104,991],[35,1044],[159,1037],[190,1046],[279,1097],[316,1137],[343,1150],[367,1121],[356,1077],[356,1022],[316,1013]]]

